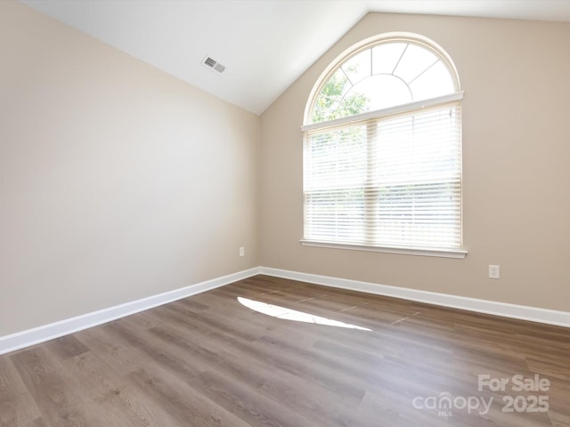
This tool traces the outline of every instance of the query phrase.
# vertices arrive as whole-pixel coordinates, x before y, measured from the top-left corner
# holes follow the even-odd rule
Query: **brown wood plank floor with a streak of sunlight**
[[[570,330],[257,276],[0,356],[0,425],[567,427]]]

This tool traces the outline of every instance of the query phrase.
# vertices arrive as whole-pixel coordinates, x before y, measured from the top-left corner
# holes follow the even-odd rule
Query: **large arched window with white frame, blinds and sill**
[[[304,245],[463,257],[452,60],[380,36],[331,65],[305,113]]]

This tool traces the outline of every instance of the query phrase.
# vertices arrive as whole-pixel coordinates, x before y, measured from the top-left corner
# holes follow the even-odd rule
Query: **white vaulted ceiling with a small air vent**
[[[570,22],[570,0],[22,1],[256,114],[367,12]]]

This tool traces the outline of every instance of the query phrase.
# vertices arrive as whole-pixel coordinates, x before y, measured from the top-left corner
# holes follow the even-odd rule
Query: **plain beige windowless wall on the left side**
[[[259,117],[23,4],[0,40],[0,336],[258,265]]]

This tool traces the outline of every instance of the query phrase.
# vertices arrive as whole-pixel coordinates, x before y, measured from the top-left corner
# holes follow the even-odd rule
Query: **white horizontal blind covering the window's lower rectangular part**
[[[305,130],[305,240],[460,249],[460,101],[377,113]]]

